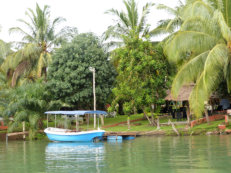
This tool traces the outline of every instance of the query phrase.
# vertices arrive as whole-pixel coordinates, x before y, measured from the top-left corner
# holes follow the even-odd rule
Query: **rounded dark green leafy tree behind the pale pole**
[[[71,43],[55,52],[48,74],[48,90],[53,98],[76,109],[92,108],[92,72],[89,67],[96,70],[97,107],[103,109],[111,93],[115,70],[99,39],[92,33],[77,35]]]

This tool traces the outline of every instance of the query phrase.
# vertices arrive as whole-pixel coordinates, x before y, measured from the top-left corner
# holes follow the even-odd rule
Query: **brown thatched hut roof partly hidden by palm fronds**
[[[168,100],[168,101],[188,101],[189,96],[190,96],[194,86],[195,86],[195,84],[188,84],[188,85],[182,86],[177,98],[174,98],[172,96],[171,90],[167,90],[167,96],[165,97],[165,100]]]

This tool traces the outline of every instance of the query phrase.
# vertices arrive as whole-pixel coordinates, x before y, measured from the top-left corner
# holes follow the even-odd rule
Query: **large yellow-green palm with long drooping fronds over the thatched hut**
[[[176,97],[182,85],[196,83],[190,108],[197,116],[202,114],[204,103],[222,81],[226,81],[228,91],[231,90],[231,15],[224,10],[230,9],[231,3],[223,2],[197,0],[192,3],[188,18],[164,47],[169,61],[180,64],[172,94]]]

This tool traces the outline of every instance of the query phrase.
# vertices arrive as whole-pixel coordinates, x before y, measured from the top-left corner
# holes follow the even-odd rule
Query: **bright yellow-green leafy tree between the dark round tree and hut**
[[[114,56],[120,59],[111,109],[122,101],[127,115],[134,113],[135,109],[143,110],[147,118],[149,111],[158,113],[159,106],[164,102],[168,71],[161,49],[154,48],[149,41],[127,37],[125,46],[116,49]],[[154,125],[154,121],[149,122]]]

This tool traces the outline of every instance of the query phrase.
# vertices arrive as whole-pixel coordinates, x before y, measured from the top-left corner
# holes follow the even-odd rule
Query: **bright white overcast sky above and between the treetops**
[[[19,41],[19,35],[9,35],[11,27],[20,26],[17,19],[28,18],[25,16],[27,8],[35,9],[36,2],[41,8],[44,5],[50,6],[51,17],[63,17],[66,22],[63,26],[77,27],[80,33],[94,32],[100,36],[109,25],[113,24],[113,16],[104,14],[108,9],[115,8],[119,11],[124,8],[122,0],[2,0],[0,3],[0,39]],[[178,0],[136,0],[139,10],[146,2],[162,3],[174,7]],[[148,23],[152,28],[160,19],[169,18],[166,12],[152,8],[148,17]]]

